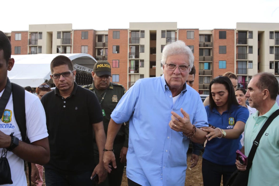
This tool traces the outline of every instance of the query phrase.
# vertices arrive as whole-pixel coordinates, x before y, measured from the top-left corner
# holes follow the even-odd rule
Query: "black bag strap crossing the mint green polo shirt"
[[[259,142],[260,142],[260,139],[261,137],[263,136],[263,133],[265,132],[265,130],[267,129],[267,127],[270,125],[271,121],[273,121],[277,116],[279,115],[279,109],[276,110],[274,113],[272,113],[268,119],[266,120],[266,122],[264,123],[263,127],[261,128],[261,130],[259,131],[256,139],[254,140],[253,142],[253,145],[252,145],[252,148],[249,152],[249,155],[248,155],[248,164],[247,164],[247,170],[249,170],[252,166],[252,161],[254,159],[254,156],[255,156],[255,153],[256,153],[256,150],[259,146]]]

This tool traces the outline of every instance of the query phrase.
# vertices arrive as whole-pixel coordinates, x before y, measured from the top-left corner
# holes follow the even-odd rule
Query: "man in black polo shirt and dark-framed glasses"
[[[41,101],[47,118],[50,161],[45,165],[47,186],[91,186],[95,173],[99,182],[106,173],[102,161],[94,169],[93,130],[100,160],[103,157],[105,132],[100,103],[92,91],[79,87],[76,71],[66,56],[57,56],[50,63],[56,88]]]

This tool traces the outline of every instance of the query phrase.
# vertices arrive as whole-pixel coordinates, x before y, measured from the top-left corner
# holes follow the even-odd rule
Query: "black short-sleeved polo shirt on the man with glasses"
[[[71,96],[64,99],[56,88],[45,94],[50,161],[45,168],[75,174],[94,169],[92,124],[103,121],[96,95],[74,82]]]

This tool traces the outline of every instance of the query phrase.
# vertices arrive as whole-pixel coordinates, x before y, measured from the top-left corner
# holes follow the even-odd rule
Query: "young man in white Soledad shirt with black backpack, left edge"
[[[45,112],[39,98],[12,84],[7,77],[14,63],[11,43],[0,31],[0,185],[26,186],[23,160],[46,164],[50,152]],[[26,137],[30,144],[23,142]]]

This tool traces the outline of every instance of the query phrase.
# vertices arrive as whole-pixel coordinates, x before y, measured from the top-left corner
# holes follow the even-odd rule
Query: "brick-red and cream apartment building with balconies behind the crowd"
[[[88,53],[112,66],[112,82],[129,89],[136,80],[163,74],[163,47],[183,40],[194,54],[194,89],[209,94],[227,71],[238,82],[268,71],[279,80],[279,23],[237,23],[235,29],[177,28],[176,22],[131,22],[126,29],[72,29],[72,24],[29,25],[11,32],[12,54]]]

